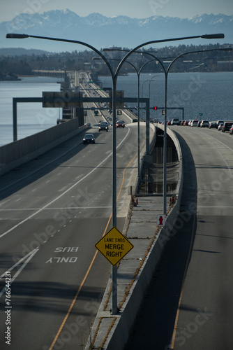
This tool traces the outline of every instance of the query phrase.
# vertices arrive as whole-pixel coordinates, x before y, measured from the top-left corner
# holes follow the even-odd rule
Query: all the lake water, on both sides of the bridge
[[[0,146],[13,141],[13,97],[42,97],[43,91],[59,91],[57,81],[61,80],[36,77],[0,82]],[[100,81],[103,87],[112,87],[110,77],[100,77]],[[142,73],[140,96],[149,97],[149,85],[150,106],[163,107],[164,74]],[[137,97],[137,75],[119,76],[117,90],[124,90],[124,97]],[[233,72],[169,73],[167,106],[183,107],[185,119],[233,120]],[[18,139],[57,125],[59,113],[59,109],[43,109],[42,104],[17,104]],[[167,111],[167,120],[175,117],[181,119],[181,111]],[[151,110],[151,118],[163,121],[161,110]]]

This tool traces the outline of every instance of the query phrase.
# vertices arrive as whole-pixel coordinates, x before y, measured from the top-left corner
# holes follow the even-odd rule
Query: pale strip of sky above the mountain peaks
[[[232,0],[1,0],[0,22],[20,13],[43,13],[68,8],[81,17],[97,12],[107,17],[127,15],[148,18],[153,15],[192,18],[203,13],[233,15]]]

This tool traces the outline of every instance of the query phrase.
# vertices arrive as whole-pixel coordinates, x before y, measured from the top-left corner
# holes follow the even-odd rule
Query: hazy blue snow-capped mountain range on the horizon
[[[45,13],[22,13],[10,22],[0,23],[0,48],[37,48],[48,51],[84,50],[82,46],[57,41],[44,41],[35,38],[24,40],[6,39],[6,33],[21,33],[37,36],[66,38],[89,43],[95,48],[121,46],[134,48],[147,41],[198,36],[202,34],[224,33],[224,39],[206,41],[173,41],[157,47],[179,45],[198,45],[205,43],[233,43],[232,15],[196,15],[193,18],[172,18],[152,16],[149,18],[130,18],[125,15],[105,17],[91,13],[80,17],[73,11],[50,10]]]

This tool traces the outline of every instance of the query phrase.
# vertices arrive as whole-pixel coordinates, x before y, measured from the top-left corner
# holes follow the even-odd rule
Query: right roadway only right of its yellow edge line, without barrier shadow
[[[176,316],[174,349],[230,350],[233,139],[229,132],[223,134],[206,128],[173,127],[173,130],[188,144],[197,176],[193,247]]]

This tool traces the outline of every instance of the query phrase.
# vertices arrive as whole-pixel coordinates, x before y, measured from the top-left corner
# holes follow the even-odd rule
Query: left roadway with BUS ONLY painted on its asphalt
[[[84,145],[78,134],[1,176],[1,349],[87,343],[111,272],[94,245],[112,213],[112,127],[98,132],[92,111],[88,118],[96,144]],[[119,230],[137,172],[135,140],[137,125],[117,130]]]

